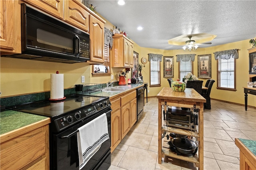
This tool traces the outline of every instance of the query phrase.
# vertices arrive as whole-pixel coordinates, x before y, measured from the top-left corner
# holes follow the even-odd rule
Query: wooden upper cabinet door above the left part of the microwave
[[[35,6],[36,8],[63,20],[64,1],[66,0],[22,0],[26,4]],[[69,0],[68,0],[69,1]]]

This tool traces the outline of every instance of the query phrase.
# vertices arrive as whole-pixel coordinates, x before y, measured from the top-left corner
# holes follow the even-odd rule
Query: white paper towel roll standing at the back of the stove
[[[50,99],[64,98],[64,76],[63,74],[51,74]]]

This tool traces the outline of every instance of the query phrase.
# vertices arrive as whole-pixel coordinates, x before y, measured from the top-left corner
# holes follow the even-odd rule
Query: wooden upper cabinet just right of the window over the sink
[[[112,67],[133,67],[133,43],[124,35],[113,35]]]

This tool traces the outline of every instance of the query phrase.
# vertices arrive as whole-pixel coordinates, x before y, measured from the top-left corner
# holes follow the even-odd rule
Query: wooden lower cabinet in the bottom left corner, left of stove
[[[50,119],[43,123],[50,123]],[[50,167],[49,125],[38,127],[34,123],[32,127],[26,126],[1,135],[0,157],[1,170],[48,170]]]

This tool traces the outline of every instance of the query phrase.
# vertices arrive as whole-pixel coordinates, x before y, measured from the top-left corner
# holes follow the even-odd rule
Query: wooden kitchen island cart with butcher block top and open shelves
[[[203,98],[196,90],[192,88],[186,88],[184,92],[174,92],[172,88],[164,87],[156,96],[158,98],[158,164],[162,163],[162,157],[170,156],[173,158],[178,158],[188,162],[193,162],[200,169],[204,169],[204,103],[206,99]],[[165,105],[166,102],[166,105]],[[164,132],[164,127],[162,127],[162,106],[166,110],[166,106],[174,107],[187,107],[193,108],[194,104],[196,108],[199,108],[198,113],[198,155],[195,156],[181,156],[170,149],[162,147],[162,133]],[[174,127],[168,127],[168,132],[174,132],[182,135],[191,135],[190,130],[178,129]]]

